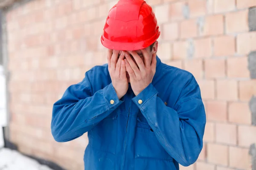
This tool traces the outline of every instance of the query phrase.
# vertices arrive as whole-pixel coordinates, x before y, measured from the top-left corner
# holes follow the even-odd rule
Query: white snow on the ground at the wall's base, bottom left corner
[[[0,149],[0,170],[52,170],[16,150]]]

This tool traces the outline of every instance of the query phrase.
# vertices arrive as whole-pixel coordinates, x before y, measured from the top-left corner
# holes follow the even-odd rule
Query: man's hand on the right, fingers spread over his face
[[[152,82],[156,72],[157,54],[153,54],[151,61],[148,52],[145,49],[141,50],[145,61],[145,63],[143,63],[143,60],[135,51],[129,52],[134,57],[138,66],[128,52],[125,52],[125,68],[130,76],[131,88],[137,96]]]

